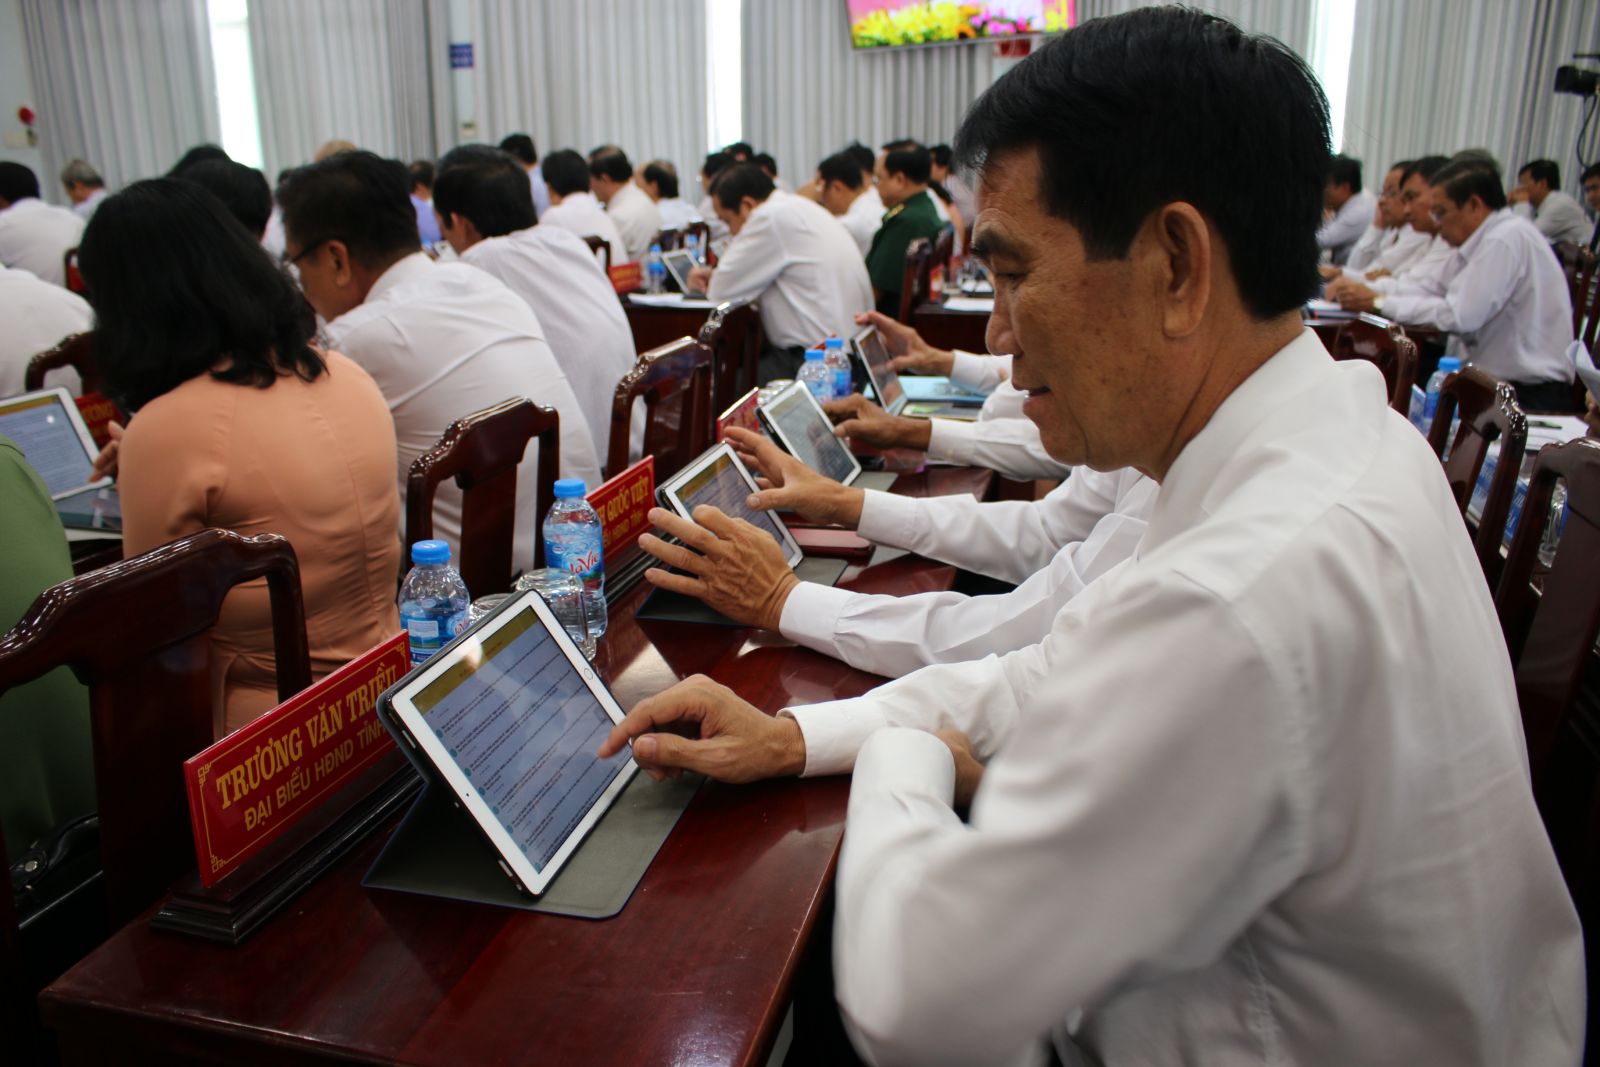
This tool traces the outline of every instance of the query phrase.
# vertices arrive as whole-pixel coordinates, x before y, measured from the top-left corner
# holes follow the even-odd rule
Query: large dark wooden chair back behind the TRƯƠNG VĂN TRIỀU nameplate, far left
[[[53,585],[0,635],[0,691],[56,667],[90,688],[106,929],[157,901],[195,864],[182,761],[213,741],[210,629],[222,600],[264,577],[272,603],[278,697],[310,685],[306,608],[294,549],[277,534],[202,530],[141,557]],[[0,840],[0,853],[3,853]],[[0,985],[18,992],[18,913],[0,891]],[[96,937],[88,937],[93,942]],[[8,1033],[13,1033],[8,1030]],[[10,1046],[6,1051],[11,1051]]]

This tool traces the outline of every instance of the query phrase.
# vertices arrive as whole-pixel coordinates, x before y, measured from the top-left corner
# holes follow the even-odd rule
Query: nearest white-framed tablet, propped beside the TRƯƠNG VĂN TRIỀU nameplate
[[[595,755],[622,709],[533,590],[440,649],[382,710],[533,896],[638,769],[627,749]]]

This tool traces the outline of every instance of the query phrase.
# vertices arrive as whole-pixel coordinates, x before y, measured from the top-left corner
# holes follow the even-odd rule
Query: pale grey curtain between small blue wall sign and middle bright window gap
[[[688,179],[706,154],[704,0],[478,0],[472,5],[478,136],[526,133],[547,155],[621,146]],[[448,24],[435,0],[440,147],[454,144]],[[693,187],[685,194],[691,194]]]

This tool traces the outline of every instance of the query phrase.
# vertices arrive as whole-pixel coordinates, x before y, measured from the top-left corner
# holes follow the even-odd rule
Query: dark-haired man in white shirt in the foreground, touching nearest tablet
[[[1326,122],[1298,56],[1192,8],[1006,72],[957,138],[992,347],[1051,454],[1160,482],[1138,552],[1037,646],[779,717],[691,678],[602,745],[853,769],[834,969],[875,1064],[1582,1056],[1582,934],[1459,509],[1376,368],[1299,320]]]

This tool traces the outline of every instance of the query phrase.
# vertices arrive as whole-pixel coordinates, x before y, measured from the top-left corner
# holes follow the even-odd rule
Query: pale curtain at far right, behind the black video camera
[[[1362,0],[1346,150],[1376,173],[1398,158],[1483,147],[1507,184],[1523,163],[1552,158],[1576,194],[1584,101],[1550,86],[1555,67],[1597,46],[1594,0]]]

